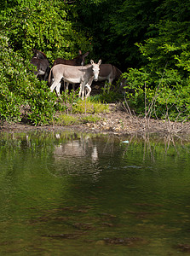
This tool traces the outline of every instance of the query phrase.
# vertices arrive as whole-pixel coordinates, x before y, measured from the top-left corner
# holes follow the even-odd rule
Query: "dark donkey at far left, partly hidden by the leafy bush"
[[[37,67],[37,71],[35,70],[34,74],[39,80],[47,80],[50,68],[46,55],[38,49],[32,49],[32,51],[34,55],[32,57],[31,63]]]

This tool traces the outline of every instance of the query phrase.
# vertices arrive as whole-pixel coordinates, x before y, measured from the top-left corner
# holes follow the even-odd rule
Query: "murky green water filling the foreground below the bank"
[[[189,151],[179,137],[0,133],[0,255],[184,255]]]

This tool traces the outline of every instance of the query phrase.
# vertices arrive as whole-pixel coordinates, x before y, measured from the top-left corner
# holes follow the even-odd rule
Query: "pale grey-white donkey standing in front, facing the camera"
[[[79,96],[82,96],[83,100],[85,86],[88,87],[88,84],[91,83],[92,79],[95,81],[98,80],[101,60],[98,61],[97,64],[92,60],[90,63],[91,65],[88,66],[68,66],[58,64],[52,67],[49,73],[50,90],[56,90],[57,95],[60,96],[61,79],[71,84],[80,83]],[[53,84],[51,84],[52,76],[54,78]]]

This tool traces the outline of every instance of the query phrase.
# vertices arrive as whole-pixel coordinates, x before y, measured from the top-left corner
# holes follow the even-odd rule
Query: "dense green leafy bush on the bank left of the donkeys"
[[[24,109],[33,124],[49,124],[60,103],[47,84],[35,78],[30,63],[9,48],[8,38],[0,39],[1,121],[20,121]]]

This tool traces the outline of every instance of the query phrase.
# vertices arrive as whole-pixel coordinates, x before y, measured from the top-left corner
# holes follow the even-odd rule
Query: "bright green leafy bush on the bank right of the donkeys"
[[[184,28],[187,23],[160,22],[158,37],[138,44],[147,65],[125,73],[126,96],[136,113],[172,120],[189,119],[190,116],[190,43]]]

